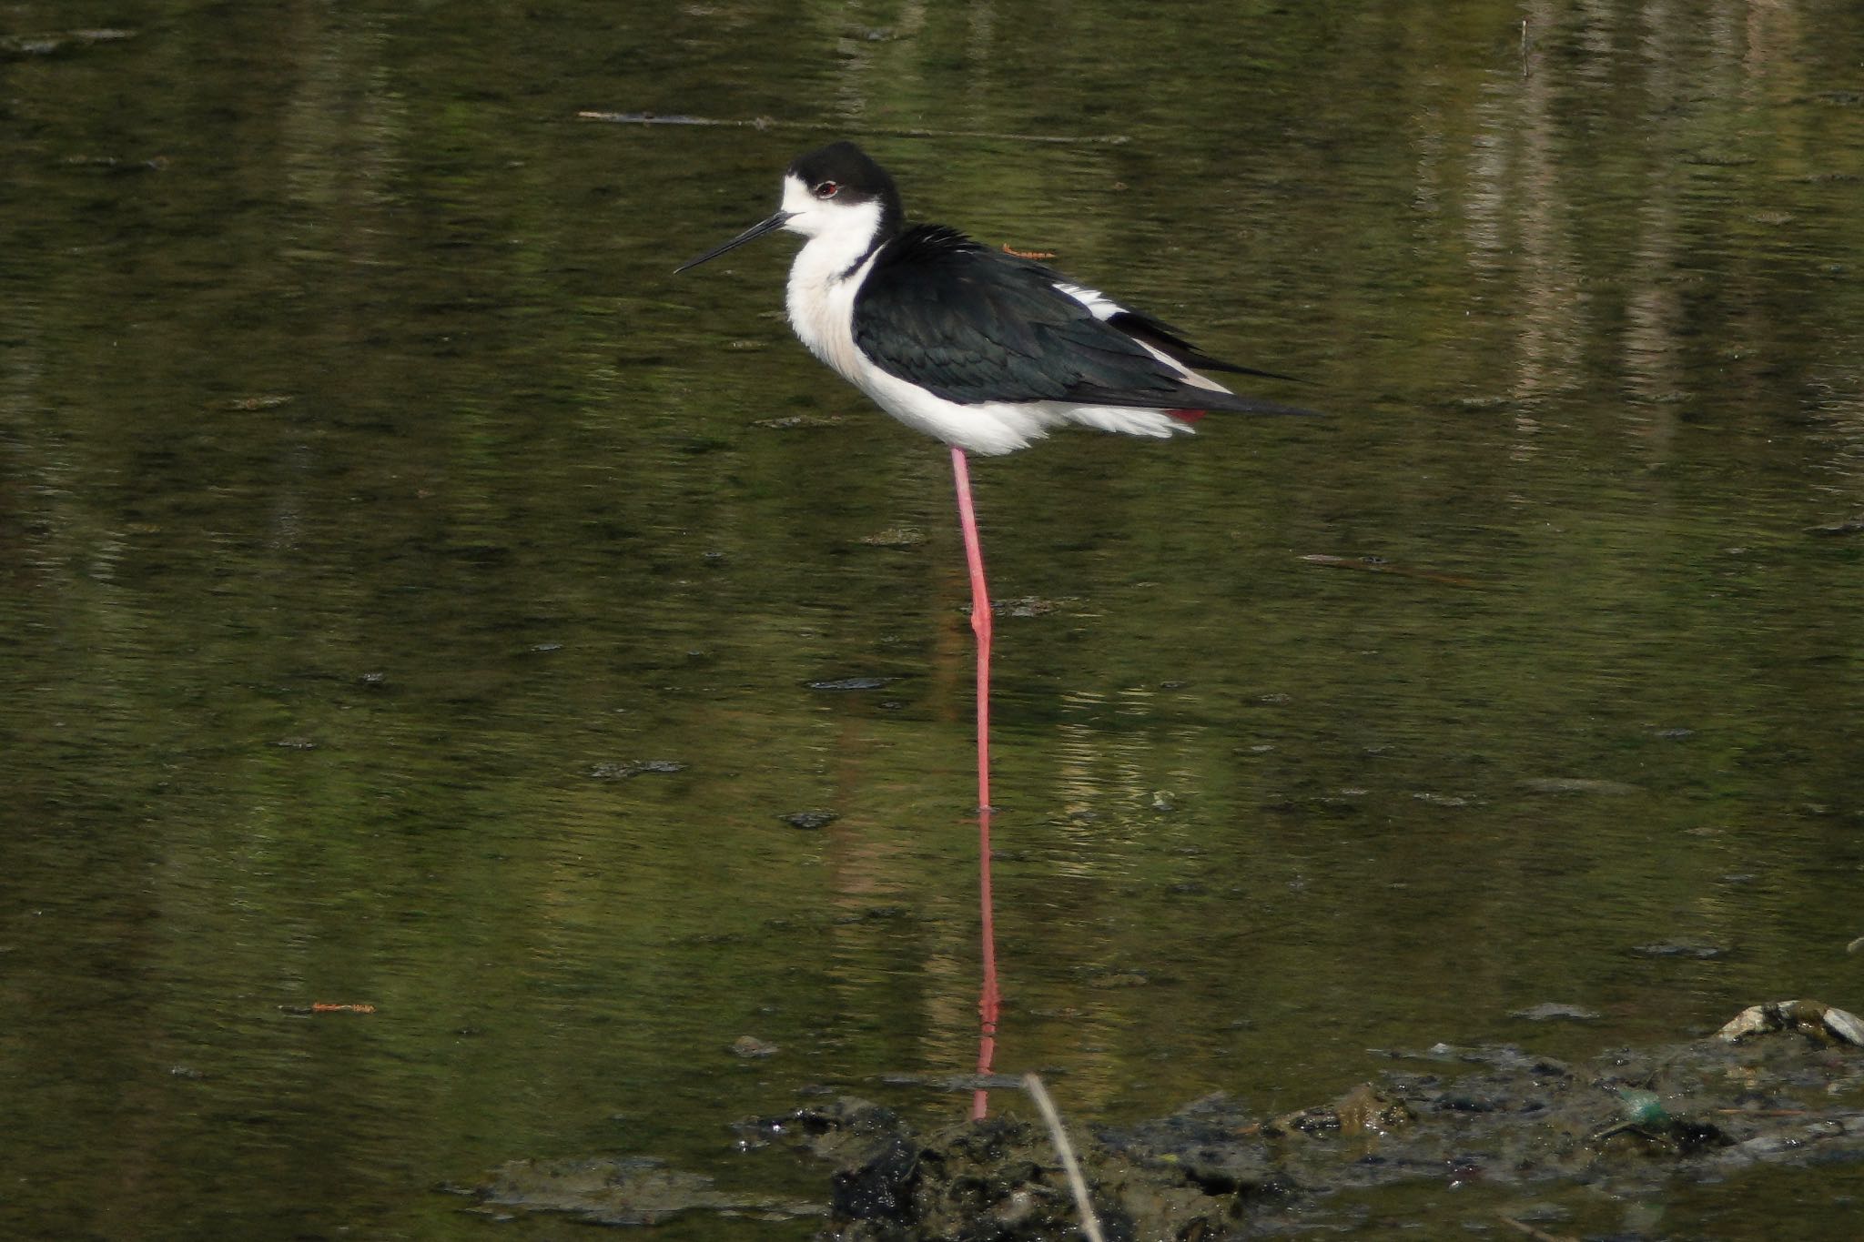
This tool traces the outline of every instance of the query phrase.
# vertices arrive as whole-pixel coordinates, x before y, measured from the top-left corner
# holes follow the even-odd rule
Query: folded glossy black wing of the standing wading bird
[[[1186,384],[1139,341],[1186,365],[1243,369],[1215,363],[1150,317],[1096,318],[1055,287],[1061,279],[953,229],[917,225],[882,248],[861,283],[854,343],[882,371],[960,404],[1307,413]]]

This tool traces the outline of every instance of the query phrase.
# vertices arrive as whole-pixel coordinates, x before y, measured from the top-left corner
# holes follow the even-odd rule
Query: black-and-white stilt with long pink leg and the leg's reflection
[[[997,1020],[990,912],[990,594],[966,452],[1012,452],[1077,423],[1128,436],[1189,432],[1210,410],[1307,413],[1238,397],[1199,371],[1277,376],[1197,350],[1174,328],[956,229],[908,225],[893,177],[848,142],[798,156],[783,207],[699,266],[775,229],[807,242],[790,266],[790,326],[844,380],[951,445],[977,633],[977,801],[982,830],[984,1046]],[[982,1115],[979,1093],[977,1115]]]

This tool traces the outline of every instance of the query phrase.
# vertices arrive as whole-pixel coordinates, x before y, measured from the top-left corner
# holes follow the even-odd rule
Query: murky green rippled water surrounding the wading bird
[[[1857,6],[0,20],[0,1233],[557,1236],[434,1186],[818,1194],[725,1123],[964,1108],[882,1082],[975,1056],[945,454],[790,339],[785,244],[669,277],[831,136],[1333,415],[977,466],[1044,605],[999,1069],[1294,1108],[1864,1004]],[[1625,1227],[1849,1236],[1834,1188]]]

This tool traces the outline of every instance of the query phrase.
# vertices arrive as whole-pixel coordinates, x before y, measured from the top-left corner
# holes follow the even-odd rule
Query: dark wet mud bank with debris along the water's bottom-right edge
[[[1435,1046],[1385,1054],[1391,1065],[1338,1100],[1279,1117],[1210,1095],[1139,1125],[1072,1130],[1107,1238],[1342,1227],[1357,1214],[1346,1203],[1419,1188],[1467,1190],[1456,1203],[1484,1214],[1473,1227],[1560,1238],[1575,1220],[1564,1205],[1575,1188],[1588,1201],[1624,1201],[1683,1182],[1739,1188],[1765,1168],[1864,1160],[1860,1041],[1864,1028],[1842,1009],[1778,1002],[1707,1039],[1584,1063],[1515,1046]],[[1079,1236],[1049,1130],[1027,1100],[999,1099],[1005,1115],[932,1134],[846,1097],[736,1127],[747,1147],[794,1145],[829,1164],[826,1205],[733,1199],[697,1175],[613,1160],[513,1162],[468,1194],[477,1210],[557,1210],[595,1223],[706,1208],[826,1212],[818,1236],[837,1242]],[[1430,1210],[1433,1225],[1454,1220]]]

